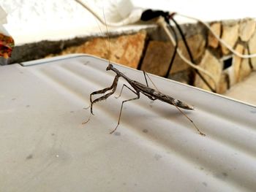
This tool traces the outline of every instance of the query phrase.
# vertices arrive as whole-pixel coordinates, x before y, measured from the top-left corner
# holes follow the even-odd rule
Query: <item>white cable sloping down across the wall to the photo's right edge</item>
[[[209,26],[208,23],[203,22],[203,20],[193,18],[193,17],[187,16],[187,15],[182,15],[182,14],[179,14],[179,13],[176,13],[175,15],[181,16],[183,18],[189,18],[189,19],[192,19],[192,20],[197,20],[198,22],[202,23],[204,26],[206,26],[206,28],[208,28],[209,31],[211,31],[211,34],[213,34],[214,37],[216,37],[218,39],[218,41],[221,42],[222,45],[227,47],[227,49],[230,50],[230,52],[232,52],[234,55],[237,55],[240,58],[255,58],[256,57],[256,54],[246,55],[246,54],[238,53],[236,50],[233,49],[233,47],[228,45],[227,42],[225,42],[223,39],[219,38],[217,36],[217,34],[215,34],[214,31],[212,31],[211,26]]]

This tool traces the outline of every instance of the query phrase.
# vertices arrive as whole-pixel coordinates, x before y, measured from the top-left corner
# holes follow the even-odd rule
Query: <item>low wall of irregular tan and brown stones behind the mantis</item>
[[[214,33],[236,52],[256,53],[255,20],[246,18],[209,24]],[[80,39],[77,42],[78,45],[71,47],[63,46],[67,45],[67,42],[61,42],[62,48],[59,48],[59,53],[45,55],[48,57],[69,53],[97,55],[118,64],[142,69],[208,91],[211,91],[208,86],[210,85],[217,93],[225,93],[228,88],[244,80],[252,70],[256,69],[256,58],[241,58],[233,54],[203,24],[186,24],[182,25],[181,29],[185,34],[195,64],[209,72],[213,80],[203,72],[193,69],[178,55],[174,58],[173,66],[169,71],[174,46],[170,43],[165,31],[159,27],[146,28],[132,34],[110,34],[110,41],[103,37],[85,38],[84,41]],[[180,36],[178,36],[178,48],[189,60],[189,54]],[[19,49],[21,50],[21,47]],[[29,55],[31,59],[33,54],[29,53]],[[26,58],[26,55],[23,58]],[[208,85],[200,76],[208,82]]]

